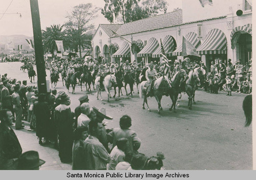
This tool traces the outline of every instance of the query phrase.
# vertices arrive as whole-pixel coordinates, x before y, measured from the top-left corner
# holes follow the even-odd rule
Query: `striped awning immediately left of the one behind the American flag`
[[[152,54],[159,47],[156,38],[150,38],[145,47],[137,54],[138,57],[152,57]]]

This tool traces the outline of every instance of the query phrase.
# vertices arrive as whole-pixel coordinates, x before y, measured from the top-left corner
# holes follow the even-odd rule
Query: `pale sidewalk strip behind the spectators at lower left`
[[[40,167],[40,170],[71,170],[72,163],[63,164],[60,162],[58,156],[58,150],[54,149],[54,144],[42,144],[39,145],[38,139],[35,135],[35,132],[28,131],[29,122],[24,122],[23,130],[15,130],[15,125],[12,126],[13,131],[15,132],[20,145],[22,146],[22,152],[26,152],[28,150],[35,150],[39,153],[39,158],[46,161]]]

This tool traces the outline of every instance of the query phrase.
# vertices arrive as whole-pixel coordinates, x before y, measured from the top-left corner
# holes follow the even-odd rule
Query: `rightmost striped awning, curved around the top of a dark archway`
[[[239,36],[244,33],[248,33],[248,34],[252,35],[252,24],[246,24],[243,26],[239,26],[232,30],[232,32],[230,34],[232,49],[234,49]]]

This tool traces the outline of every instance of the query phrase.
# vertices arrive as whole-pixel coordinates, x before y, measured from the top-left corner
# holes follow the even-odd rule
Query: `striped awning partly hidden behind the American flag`
[[[173,51],[175,50],[175,48],[177,46],[176,42],[175,42],[175,39],[172,36],[167,35],[163,39],[162,44],[163,44],[165,55],[167,57],[172,56],[172,53],[173,53]],[[161,47],[161,45],[159,45],[159,47],[152,54],[152,57],[153,58],[160,58],[161,56],[162,56],[162,47]]]

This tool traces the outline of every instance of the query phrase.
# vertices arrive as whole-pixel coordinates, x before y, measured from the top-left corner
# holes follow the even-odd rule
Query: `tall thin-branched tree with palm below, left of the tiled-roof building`
[[[68,21],[65,23],[65,27],[69,42],[74,49],[79,47],[80,57],[81,48],[91,47],[92,35],[86,33],[94,29],[94,24],[91,22],[97,17],[98,11],[99,8],[94,7],[91,3],[80,4],[75,6],[72,12],[66,16]]]

